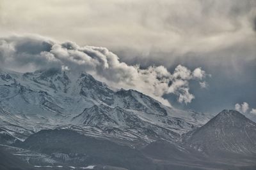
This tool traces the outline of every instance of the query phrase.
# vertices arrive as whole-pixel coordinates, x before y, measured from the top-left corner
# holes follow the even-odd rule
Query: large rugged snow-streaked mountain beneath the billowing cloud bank
[[[17,139],[41,129],[109,138],[175,140],[212,115],[177,110],[136,90],[112,90],[87,73],[0,71],[1,128]]]

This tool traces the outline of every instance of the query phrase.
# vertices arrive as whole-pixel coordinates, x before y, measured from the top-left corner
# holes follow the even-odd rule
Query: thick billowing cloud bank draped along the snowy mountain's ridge
[[[189,81],[196,80],[204,87],[207,76],[200,67],[191,71],[178,65],[170,73],[164,66],[129,66],[107,48],[57,43],[40,36],[0,38],[0,61],[1,67],[20,72],[50,67],[86,71],[111,87],[136,89],[168,105],[164,94],[174,94],[179,103],[191,103],[195,96],[189,92]]]

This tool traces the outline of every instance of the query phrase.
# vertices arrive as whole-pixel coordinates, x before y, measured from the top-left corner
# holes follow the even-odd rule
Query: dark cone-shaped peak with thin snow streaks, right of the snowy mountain
[[[256,124],[235,110],[221,111],[183,139],[189,147],[211,156],[256,155]]]

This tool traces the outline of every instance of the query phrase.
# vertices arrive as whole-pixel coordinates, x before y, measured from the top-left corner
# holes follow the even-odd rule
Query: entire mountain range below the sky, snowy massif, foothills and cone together
[[[0,70],[0,143],[35,169],[256,169],[241,113],[177,110],[58,69]]]

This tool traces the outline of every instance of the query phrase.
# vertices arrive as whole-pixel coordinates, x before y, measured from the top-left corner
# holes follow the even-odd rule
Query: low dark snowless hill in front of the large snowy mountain
[[[51,155],[70,166],[108,165],[127,169],[156,169],[138,150],[70,130],[43,130],[15,146]]]

